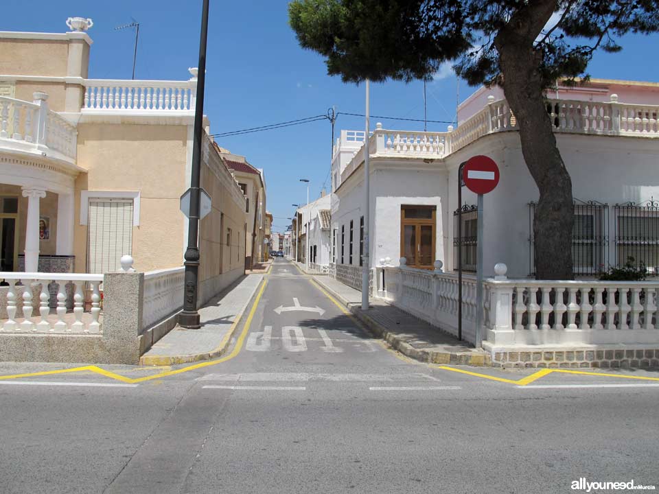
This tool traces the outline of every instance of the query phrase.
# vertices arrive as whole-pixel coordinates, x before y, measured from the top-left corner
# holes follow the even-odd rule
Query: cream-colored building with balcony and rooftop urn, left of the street
[[[196,69],[183,81],[89,79],[91,21],[69,21],[62,34],[0,32],[0,270],[108,272],[125,254],[139,271],[181,266]],[[208,135],[201,181],[212,199],[203,303],[244,274],[248,222]]]

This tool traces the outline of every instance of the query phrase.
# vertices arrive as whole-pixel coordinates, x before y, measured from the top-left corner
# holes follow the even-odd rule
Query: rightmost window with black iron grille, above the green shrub
[[[645,266],[648,274],[659,274],[659,202],[615,205],[616,262]]]

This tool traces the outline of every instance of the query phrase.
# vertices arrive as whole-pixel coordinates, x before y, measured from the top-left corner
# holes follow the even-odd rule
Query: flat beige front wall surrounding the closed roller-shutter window
[[[76,272],[86,270],[86,226],[80,225],[80,191],[139,191],[140,224],[133,228],[135,268],[181,266],[187,128],[137,124],[80,124],[76,179]]]

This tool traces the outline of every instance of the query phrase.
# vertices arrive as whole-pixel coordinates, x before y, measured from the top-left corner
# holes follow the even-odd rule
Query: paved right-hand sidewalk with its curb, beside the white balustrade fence
[[[378,298],[371,298],[370,308],[362,311],[362,292],[327,276],[313,279],[363,322],[376,336],[420,362],[490,366],[489,353],[472,348],[428,322],[415,318]]]

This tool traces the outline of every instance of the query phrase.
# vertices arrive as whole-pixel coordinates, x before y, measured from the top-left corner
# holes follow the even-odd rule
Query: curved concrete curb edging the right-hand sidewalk
[[[373,335],[382,338],[391,348],[400,351],[406,357],[413,358],[419,362],[427,362],[429,364],[455,364],[455,365],[468,365],[474,367],[490,367],[492,366],[492,356],[485,351],[465,351],[465,352],[448,352],[448,351],[428,351],[424,349],[415,349],[411,344],[406,342],[396,333],[392,333],[386,327],[380,325],[379,322],[373,320],[367,314],[364,314],[358,304],[349,303],[340,294],[334,292],[330,287],[325,285],[322,281],[314,278],[314,281],[327,290],[337,301],[345,306],[355,318],[360,320]],[[439,331],[439,330],[438,330]]]

